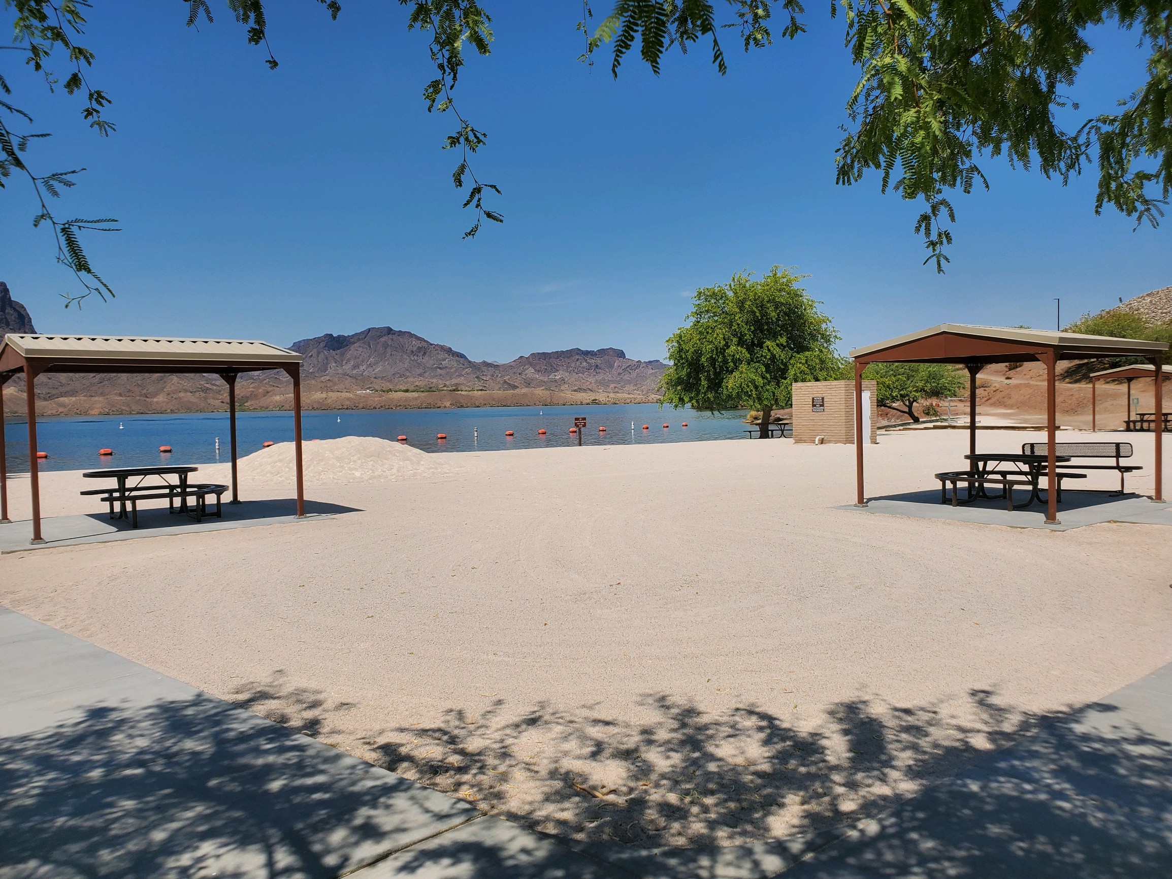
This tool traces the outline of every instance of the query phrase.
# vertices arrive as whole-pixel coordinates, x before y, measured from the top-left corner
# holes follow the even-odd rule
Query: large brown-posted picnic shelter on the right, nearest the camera
[[[1093,360],[1097,357],[1144,357],[1151,362],[1156,377],[1156,492],[1153,500],[1164,502],[1163,486],[1163,401],[1161,381],[1164,354],[1167,342],[1140,339],[1115,339],[1059,331],[1024,329],[1017,327],[982,327],[969,323],[940,323],[908,333],[885,342],[856,348],[850,353],[854,361],[854,425],[856,436],[863,432],[861,386],[863,370],[868,363],[959,363],[969,376],[968,444],[976,452],[976,376],[990,363],[1037,361],[1045,364],[1045,436],[1048,463],[1048,523],[1058,522],[1057,470],[1055,434],[1057,431],[1057,367],[1061,360]],[[863,472],[863,443],[854,444],[856,503],[866,504]]]

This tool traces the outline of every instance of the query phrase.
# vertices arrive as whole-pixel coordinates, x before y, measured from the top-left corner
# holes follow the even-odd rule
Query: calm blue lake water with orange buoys
[[[548,411],[545,411],[548,409]],[[704,415],[691,409],[660,409],[654,403],[638,406],[509,407],[484,409],[383,409],[376,411],[302,413],[305,440],[333,440],[340,436],[380,436],[394,440],[400,434],[424,451],[492,451],[536,449],[545,445],[577,445],[570,435],[574,416],[587,420],[584,445],[628,445],[632,443],[679,443],[693,440],[743,437],[744,411]],[[688,427],[681,427],[683,422]],[[631,424],[635,429],[632,431]],[[670,427],[663,429],[663,423]],[[643,430],[649,424],[649,430]],[[606,432],[599,434],[598,428]],[[23,421],[7,418],[8,471],[28,471],[28,434]],[[539,436],[538,430],[548,432]],[[475,434],[473,434],[475,430]],[[515,436],[506,437],[512,430]],[[447,434],[445,441],[436,434]],[[293,440],[291,413],[240,413],[237,416],[240,457],[261,448],[266,440]],[[216,454],[219,437],[219,456]],[[49,454],[42,470],[88,470],[101,466],[145,466],[150,464],[211,464],[227,461],[227,414],[127,415],[38,418],[36,442]],[[163,455],[159,445],[173,451]],[[113,457],[98,457],[98,449],[114,449]]]

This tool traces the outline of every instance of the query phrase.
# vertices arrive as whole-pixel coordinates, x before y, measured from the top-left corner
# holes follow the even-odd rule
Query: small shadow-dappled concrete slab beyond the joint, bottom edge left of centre
[[[428,839],[354,873],[354,879],[620,879],[638,877],[499,818]]]

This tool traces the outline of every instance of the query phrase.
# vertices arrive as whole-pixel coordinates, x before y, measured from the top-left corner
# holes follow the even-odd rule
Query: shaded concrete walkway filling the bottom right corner
[[[1172,874],[1172,666],[914,797],[795,879]]]

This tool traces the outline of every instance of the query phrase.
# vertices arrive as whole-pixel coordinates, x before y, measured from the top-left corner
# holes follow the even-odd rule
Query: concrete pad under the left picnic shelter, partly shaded
[[[41,519],[43,544],[30,543],[33,523],[21,519],[0,525],[0,554],[43,550],[52,546],[76,546],[79,544],[102,544],[110,540],[134,540],[144,537],[189,534],[193,531],[225,531],[254,525],[280,525],[288,522],[326,518],[336,513],[353,512],[353,507],[338,504],[306,502],[306,516],[295,516],[295,500],[245,500],[240,504],[224,504],[224,517],[205,517],[196,522],[184,513],[170,513],[166,507],[138,511],[138,527],[130,527],[128,519],[111,519],[108,513],[89,516],[53,516]]]

